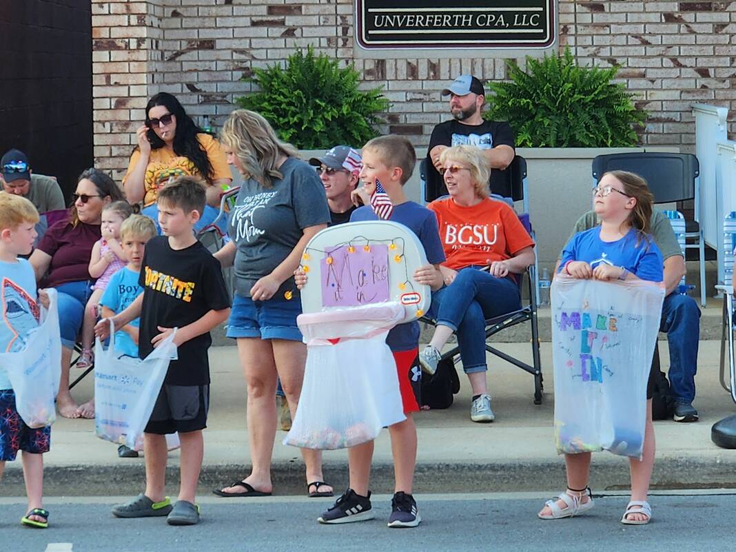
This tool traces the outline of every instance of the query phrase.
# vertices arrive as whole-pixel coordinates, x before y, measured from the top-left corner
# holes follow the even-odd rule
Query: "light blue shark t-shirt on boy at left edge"
[[[0,261],[0,279],[0,351],[15,353],[26,346],[25,336],[40,320],[36,275],[31,263],[18,259],[15,263]],[[2,367],[0,389],[12,389]]]

